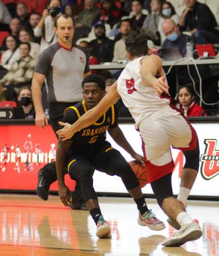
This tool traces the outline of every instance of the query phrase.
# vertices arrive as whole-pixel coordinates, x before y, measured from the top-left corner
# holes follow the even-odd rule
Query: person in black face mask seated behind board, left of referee
[[[18,92],[18,102],[24,110],[25,119],[34,119],[36,114],[33,107],[32,93],[30,87],[24,86],[20,88]]]

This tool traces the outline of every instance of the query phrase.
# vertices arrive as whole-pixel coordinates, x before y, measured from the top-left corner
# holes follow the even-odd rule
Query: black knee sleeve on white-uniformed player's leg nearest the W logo
[[[194,150],[184,151],[183,154],[186,158],[186,163],[183,168],[193,169],[198,172],[199,170],[199,142],[197,141],[197,146]]]

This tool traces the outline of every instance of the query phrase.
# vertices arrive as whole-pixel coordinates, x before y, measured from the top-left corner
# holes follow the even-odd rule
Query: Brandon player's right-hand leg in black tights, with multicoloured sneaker
[[[117,175],[122,179],[126,190],[134,199],[137,209],[139,210],[139,225],[148,226],[149,229],[152,230],[165,229],[164,223],[158,220],[155,214],[147,208],[139,180],[137,180],[136,175],[122,154],[114,148],[111,148],[110,151],[107,152],[106,148],[103,148],[96,160],[97,170],[104,171],[109,175]]]

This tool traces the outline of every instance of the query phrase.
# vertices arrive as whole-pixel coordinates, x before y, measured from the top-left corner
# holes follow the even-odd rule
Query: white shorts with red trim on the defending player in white
[[[180,112],[166,106],[141,121],[139,131],[148,171],[148,183],[169,174],[174,168],[171,146],[181,151],[197,146],[197,133]]]

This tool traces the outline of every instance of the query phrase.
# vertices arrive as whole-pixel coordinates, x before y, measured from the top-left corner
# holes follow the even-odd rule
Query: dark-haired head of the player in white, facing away
[[[147,55],[147,35],[141,31],[132,30],[125,39],[125,49],[131,57]]]

